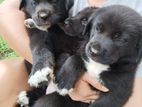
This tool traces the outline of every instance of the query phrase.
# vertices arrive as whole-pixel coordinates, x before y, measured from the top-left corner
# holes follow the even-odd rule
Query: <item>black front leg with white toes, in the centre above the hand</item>
[[[60,95],[67,95],[72,91],[75,82],[79,76],[85,72],[85,66],[81,56],[74,55],[69,57],[60,71],[56,71],[55,82],[57,83],[57,92]]]

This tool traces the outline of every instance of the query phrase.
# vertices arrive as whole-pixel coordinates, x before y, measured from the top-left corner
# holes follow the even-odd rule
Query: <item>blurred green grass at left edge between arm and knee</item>
[[[2,3],[4,0],[0,0]],[[0,59],[11,58],[18,56],[6,43],[6,41],[0,35]]]

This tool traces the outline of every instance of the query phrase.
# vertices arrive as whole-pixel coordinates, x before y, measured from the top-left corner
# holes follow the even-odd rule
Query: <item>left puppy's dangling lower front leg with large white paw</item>
[[[41,54],[41,56],[38,54]],[[42,49],[40,52],[34,54],[32,72],[28,83],[30,86],[38,87],[40,83],[48,81],[48,76],[53,73],[53,56],[47,49]]]

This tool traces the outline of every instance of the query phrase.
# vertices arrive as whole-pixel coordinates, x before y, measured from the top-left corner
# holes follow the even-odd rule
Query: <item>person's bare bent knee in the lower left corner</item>
[[[29,90],[23,58],[0,61],[0,107],[15,107],[20,91]]]

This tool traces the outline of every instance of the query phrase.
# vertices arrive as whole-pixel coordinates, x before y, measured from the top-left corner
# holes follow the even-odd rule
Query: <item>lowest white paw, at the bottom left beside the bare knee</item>
[[[21,107],[29,107],[29,98],[27,97],[26,91],[20,92],[17,103],[20,104]]]

